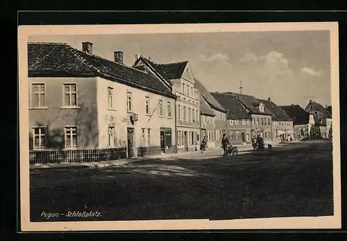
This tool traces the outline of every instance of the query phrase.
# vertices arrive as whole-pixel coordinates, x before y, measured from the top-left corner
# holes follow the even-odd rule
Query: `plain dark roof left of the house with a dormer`
[[[228,110],[226,118],[228,120],[236,119],[251,119],[251,116],[247,113],[242,103],[229,93],[211,93],[211,95]]]

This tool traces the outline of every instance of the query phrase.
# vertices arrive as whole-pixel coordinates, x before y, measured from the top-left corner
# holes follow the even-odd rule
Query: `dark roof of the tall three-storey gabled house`
[[[188,64],[188,61],[169,63],[169,64],[157,64],[152,62],[151,60],[146,59],[146,57],[140,56],[134,63],[134,66],[140,61],[153,66],[155,71],[159,73],[159,75],[165,80],[174,80],[179,79],[183,75],[183,71],[185,71],[185,67]]]

